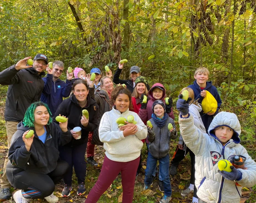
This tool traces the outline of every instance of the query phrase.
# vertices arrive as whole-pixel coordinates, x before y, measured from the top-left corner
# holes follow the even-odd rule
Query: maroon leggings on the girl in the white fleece
[[[88,194],[85,202],[96,203],[121,171],[123,188],[122,203],[132,203],[136,171],[139,162],[140,157],[129,162],[118,162],[111,161],[105,156],[98,180]]]

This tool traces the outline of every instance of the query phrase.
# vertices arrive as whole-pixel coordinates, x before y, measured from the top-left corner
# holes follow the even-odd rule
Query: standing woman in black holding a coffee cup
[[[70,191],[72,190],[73,166],[78,179],[77,194],[85,194],[84,180],[86,175],[86,162],[84,156],[86,153],[88,134],[97,127],[98,118],[98,105],[91,98],[90,94],[88,94],[89,87],[87,82],[81,79],[76,80],[72,90],[73,95],[63,100],[55,113],[55,116],[61,114],[69,118],[68,129],[73,136],[70,143],[60,148],[60,158],[69,164],[69,169],[64,174],[63,178],[65,185],[62,190],[62,197],[70,196]],[[83,109],[89,112],[88,119],[82,115]]]

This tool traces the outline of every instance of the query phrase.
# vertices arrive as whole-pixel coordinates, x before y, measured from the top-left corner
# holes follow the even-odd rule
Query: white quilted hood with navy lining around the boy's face
[[[233,140],[236,144],[240,143],[239,135],[241,133],[241,126],[236,114],[222,111],[214,117],[209,126],[208,133],[217,140],[218,138],[214,134],[214,129],[220,126],[227,126],[233,130],[234,133],[230,142]]]

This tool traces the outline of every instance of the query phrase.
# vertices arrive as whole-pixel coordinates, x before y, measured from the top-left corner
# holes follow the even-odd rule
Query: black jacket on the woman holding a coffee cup
[[[82,117],[82,110],[87,109],[89,113],[89,123],[87,127],[84,127],[81,124],[81,117]],[[93,100],[90,94],[87,95],[87,105],[86,107],[82,108],[77,100],[76,96],[72,95],[69,98],[62,101],[59,105],[57,111],[55,112],[55,117],[58,115],[68,117],[68,129],[72,130],[74,127],[81,127],[82,128],[82,135],[81,139],[76,140],[72,137],[72,140],[67,145],[69,146],[78,146],[88,141],[88,134],[89,132],[93,132],[94,129],[98,126],[97,119],[98,119],[98,105],[95,100]],[[57,122],[58,123],[58,122]]]

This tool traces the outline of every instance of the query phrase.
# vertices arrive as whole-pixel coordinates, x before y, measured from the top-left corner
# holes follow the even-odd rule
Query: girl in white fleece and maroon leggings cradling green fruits
[[[100,120],[99,137],[106,150],[98,180],[87,196],[86,203],[96,203],[100,196],[121,172],[123,197],[122,203],[132,203],[135,176],[140,161],[142,139],[147,136],[147,127],[137,113],[129,111],[131,93],[122,86],[117,86],[112,94],[113,109],[103,114]],[[137,124],[126,122],[118,128],[119,117],[133,115]]]

